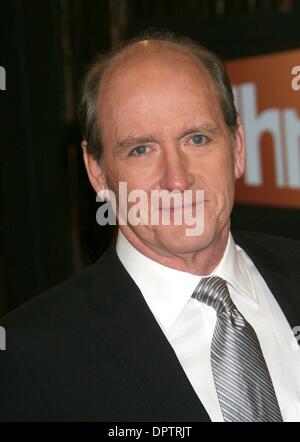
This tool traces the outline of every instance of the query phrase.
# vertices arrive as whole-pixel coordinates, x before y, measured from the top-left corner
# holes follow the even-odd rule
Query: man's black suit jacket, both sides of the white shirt
[[[300,325],[299,242],[234,236]],[[114,245],[0,322],[1,420],[209,421]]]

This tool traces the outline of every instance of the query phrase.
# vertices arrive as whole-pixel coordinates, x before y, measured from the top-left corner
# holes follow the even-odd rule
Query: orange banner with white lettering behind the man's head
[[[245,128],[247,169],[236,201],[300,207],[300,50],[229,61]]]

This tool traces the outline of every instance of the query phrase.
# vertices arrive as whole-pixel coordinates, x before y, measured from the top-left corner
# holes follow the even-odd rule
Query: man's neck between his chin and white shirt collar
[[[188,253],[170,253],[147,244],[130,229],[122,230],[130,244],[140,253],[167,267],[194,275],[209,275],[220,263],[228,242],[229,224],[211,241],[199,244],[196,251]]]

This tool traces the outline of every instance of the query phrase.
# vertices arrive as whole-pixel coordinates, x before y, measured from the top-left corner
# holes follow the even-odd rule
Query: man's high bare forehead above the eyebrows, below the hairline
[[[176,47],[148,43],[128,48],[105,72],[98,99],[101,120],[124,108],[134,111],[135,105],[141,112],[152,99],[165,106],[177,96],[195,102],[208,96],[218,100],[215,85],[195,57]]]

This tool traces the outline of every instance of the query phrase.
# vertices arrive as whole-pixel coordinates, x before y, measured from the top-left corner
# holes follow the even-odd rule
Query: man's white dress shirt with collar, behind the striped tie
[[[216,312],[191,297],[201,276],[149,259],[120,231],[116,250],[211,420],[222,422],[210,362]],[[226,280],[233,302],[257,334],[283,420],[300,422],[300,346],[264,279],[231,234],[224,256],[211,275]]]

